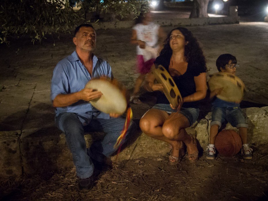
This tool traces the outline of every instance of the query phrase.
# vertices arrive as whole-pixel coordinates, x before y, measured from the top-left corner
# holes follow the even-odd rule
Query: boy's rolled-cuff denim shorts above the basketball
[[[221,124],[225,120],[233,127],[248,127],[240,107],[212,107],[212,120],[210,126],[217,124],[221,127]]]

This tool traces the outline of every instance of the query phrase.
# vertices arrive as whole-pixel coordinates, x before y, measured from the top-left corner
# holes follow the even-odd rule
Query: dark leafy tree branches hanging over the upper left
[[[74,11],[68,0],[1,0],[0,43],[9,44],[11,38],[26,35],[34,43],[47,36],[70,33],[79,24],[90,22],[86,14],[92,11],[110,12],[123,18],[129,14],[138,16],[147,9],[147,0],[84,0],[78,11]]]

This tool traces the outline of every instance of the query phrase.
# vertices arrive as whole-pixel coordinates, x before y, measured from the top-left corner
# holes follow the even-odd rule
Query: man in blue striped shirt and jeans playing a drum
[[[51,101],[53,107],[56,107],[56,125],[64,132],[72,152],[79,179],[78,190],[89,191],[94,183],[93,171],[108,170],[112,167],[109,156],[117,149],[114,145],[124,128],[125,118],[118,113],[103,113],[88,103],[103,95],[94,88],[85,88],[88,81],[102,76],[113,78],[109,63],[93,54],[96,47],[96,32],[93,26],[78,26],[73,42],[76,50],[59,61],[53,71]],[[135,127],[131,121],[126,134]],[[87,149],[84,132],[88,131],[105,132],[106,135]]]

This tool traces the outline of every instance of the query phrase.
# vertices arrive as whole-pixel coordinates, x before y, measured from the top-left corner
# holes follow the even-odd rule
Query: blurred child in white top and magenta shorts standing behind
[[[135,82],[134,91],[130,101],[141,104],[139,91],[145,75],[150,71],[156,57],[163,48],[165,38],[163,29],[153,22],[151,13],[141,13],[132,28],[131,44],[137,45],[136,68],[140,74]]]

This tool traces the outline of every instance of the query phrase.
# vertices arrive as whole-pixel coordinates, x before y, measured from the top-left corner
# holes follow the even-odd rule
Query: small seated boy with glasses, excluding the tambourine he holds
[[[222,54],[216,61],[219,72],[236,73],[236,57],[231,54]],[[211,92],[210,98],[221,93],[222,88],[215,89]],[[239,107],[239,103],[227,102],[215,98],[212,103],[212,120],[210,123],[209,144],[207,146],[207,159],[215,159],[215,138],[222,123],[227,120],[232,126],[239,129],[239,135],[242,139],[241,154],[243,159],[252,159],[252,149],[247,144],[247,127],[245,117]]]

